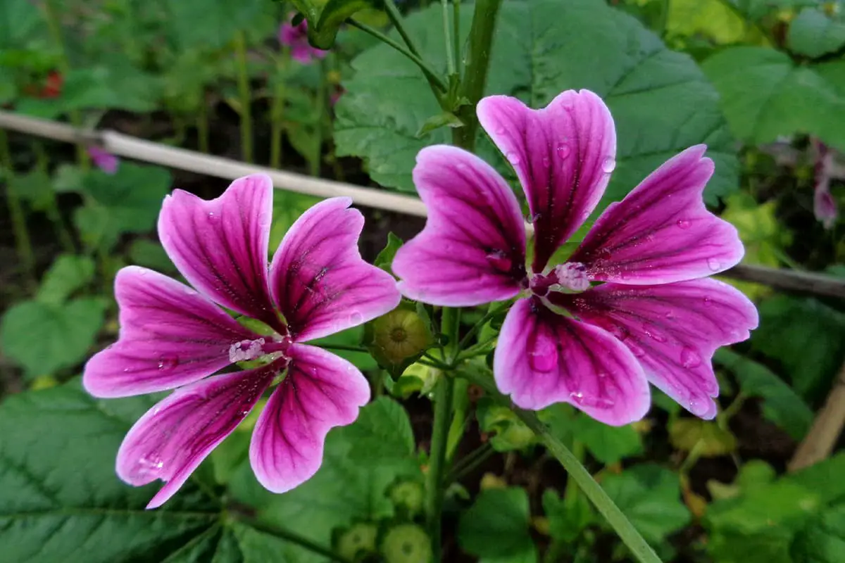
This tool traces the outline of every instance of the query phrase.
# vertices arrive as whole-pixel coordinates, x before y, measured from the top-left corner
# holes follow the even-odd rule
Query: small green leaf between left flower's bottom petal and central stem
[[[371,459],[410,458],[416,449],[411,420],[400,403],[379,397],[363,409],[346,435],[355,443],[352,460],[368,463]]]

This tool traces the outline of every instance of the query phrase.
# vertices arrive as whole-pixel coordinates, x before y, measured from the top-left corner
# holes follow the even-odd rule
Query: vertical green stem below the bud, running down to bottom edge
[[[452,377],[443,376],[434,387],[434,424],[426,484],[426,522],[428,534],[431,536],[435,563],[440,560],[446,443],[452,414],[452,387],[454,385],[455,380]]]

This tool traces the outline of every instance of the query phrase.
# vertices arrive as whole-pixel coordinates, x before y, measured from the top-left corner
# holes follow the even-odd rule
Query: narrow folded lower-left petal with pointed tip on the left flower
[[[172,392],[123,439],[117,476],[135,486],[166,481],[147,508],[161,506],[249,414],[279,369],[273,363],[210,377]]]

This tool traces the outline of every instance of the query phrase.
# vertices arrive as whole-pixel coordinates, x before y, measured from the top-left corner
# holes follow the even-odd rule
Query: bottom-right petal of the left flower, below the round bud
[[[287,376],[259,416],[249,446],[259,483],[283,493],[311,478],[323,463],[325,436],[357,419],[370,396],[367,378],[324,349],[294,344]]]

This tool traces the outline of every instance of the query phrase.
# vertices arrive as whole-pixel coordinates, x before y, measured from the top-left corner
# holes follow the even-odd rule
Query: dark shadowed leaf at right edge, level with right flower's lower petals
[[[823,398],[845,359],[845,315],[819,300],[786,295],[764,301],[759,310],[752,348],[778,360],[805,400]]]

